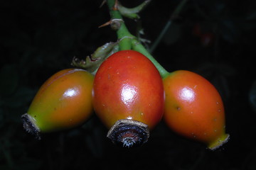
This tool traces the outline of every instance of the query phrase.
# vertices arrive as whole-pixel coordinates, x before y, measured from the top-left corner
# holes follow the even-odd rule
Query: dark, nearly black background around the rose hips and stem
[[[180,137],[164,121],[149,142],[133,149],[112,145],[95,115],[78,128],[44,134],[40,141],[23,130],[20,117],[48,77],[70,68],[74,56],[85,57],[116,41],[109,27],[97,28],[110,20],[101,2],[0,2],[0,169],[256,169],[254,0],[188,0],[153,52],[169,72],[197,72],[218,89],[230,134],[220,149],[212,152]],[[121,2],[133,7],[142,1]],[[142,11],[142,37],[151,40],[149,47],[178,2],[153,0]],[[137,23],[125,23],[135,33]]]

